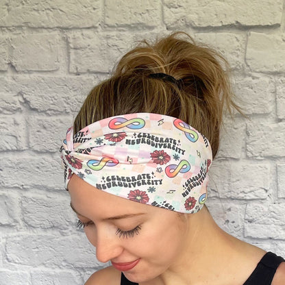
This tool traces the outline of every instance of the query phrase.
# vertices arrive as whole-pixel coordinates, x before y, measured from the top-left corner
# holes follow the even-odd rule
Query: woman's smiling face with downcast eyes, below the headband
[[[100,262],[110,260],[116,267],[117,263],[138,261],[127,271],[127,266],[121,267],[132,282],[158,277],[182,255],[186,222],[177,212],[110,195],[77,175],[71,177],[69,193]]]

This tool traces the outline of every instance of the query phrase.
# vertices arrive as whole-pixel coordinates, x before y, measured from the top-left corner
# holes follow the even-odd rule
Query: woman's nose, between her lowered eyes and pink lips
[[[95,236],[90,242],[96,247],[96,258],[99,262],[108,262],[123,252],[120,240],[114,233],[97,230]]]

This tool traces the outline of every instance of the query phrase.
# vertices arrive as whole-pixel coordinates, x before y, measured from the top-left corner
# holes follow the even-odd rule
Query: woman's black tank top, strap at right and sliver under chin
[[[271,285],[277,267],[284,261],[275,253],[267,252],[243,285]],[[138,285],[138,283],[130,282],[122,273],[121,285]]]

